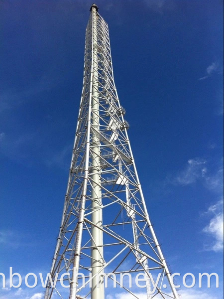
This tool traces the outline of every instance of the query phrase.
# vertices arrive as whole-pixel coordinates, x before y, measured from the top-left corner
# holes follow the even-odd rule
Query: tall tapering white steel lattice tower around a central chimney
[[[108,24],[93,4],[68,187],[45,299],[105,299],[103,273],[111,273],[109,280],[118,288],[108,289],[112,297],[122,291],[139,298],[129,285],[120,289],[117,277],[143,273],[147,299],[179,298],[149,219],[124,114],[113,79]]]

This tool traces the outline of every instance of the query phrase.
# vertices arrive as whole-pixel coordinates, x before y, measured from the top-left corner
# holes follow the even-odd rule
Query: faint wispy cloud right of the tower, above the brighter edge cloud
[[[187,167],[180,171],[170,182],[182,186],[195,183],[199,178],[205,177],[207,173],[205,164],[206,160],[201,158],[189,159]]]

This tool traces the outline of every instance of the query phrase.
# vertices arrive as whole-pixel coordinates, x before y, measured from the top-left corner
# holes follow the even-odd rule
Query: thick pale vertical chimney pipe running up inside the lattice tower
[[[99,118],[99,92],[98,92],[98,49],[97,49],[97,6],[93,4],[91,7],[93,16],[93,93],[92,93],[92,127],[94,133],[92,133],[92,209],[96,210],[92,214],[92,222],[100,227],[103,224],[102,209],[99,209],[102,205],[101,198],[101,177],[100,177],[100,142],[97,132],[100,130],[100,118]],[[92,275],[93,277],[97,273],[102,273],[101,269],[104,267],[103,259],[103,231],[92,226]],[[93,278],[91,299],[104,299],[104,277],[97,275]]]

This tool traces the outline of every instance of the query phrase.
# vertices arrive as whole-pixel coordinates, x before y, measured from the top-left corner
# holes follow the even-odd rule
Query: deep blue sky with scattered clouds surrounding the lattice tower
[[[0,272],[47,273],[92,0],[1,1]],[[223,3],[98,0],[148,210],[173,272],[223,280]],[[221,289],[180,291],[221,299]],[[1,290],[38,299],[42,289]],[[122,294],[117,299],[125,299]],[[111,299],[111,298],[107,298]]]

